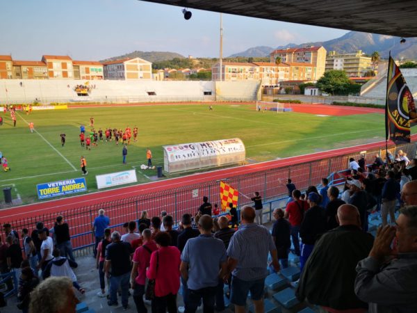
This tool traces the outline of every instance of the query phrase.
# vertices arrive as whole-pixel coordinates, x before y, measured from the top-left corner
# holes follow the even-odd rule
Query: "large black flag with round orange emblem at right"
[[[410,142],[410,126],[417,122],[416,106],[400,69],[389,56],[385,104],[386,140]]]

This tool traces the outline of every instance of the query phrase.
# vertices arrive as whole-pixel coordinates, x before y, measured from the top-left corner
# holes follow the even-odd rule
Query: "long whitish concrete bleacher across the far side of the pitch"
[[[22,83],[22,86],[20,85]],[[86,81],[75,79],[2,79],[0,104],[51,102],[190,102],[254,101],[259,81],[89,81],[88,96],[74,87]],[[6,91],[7,90],[7,91]]]

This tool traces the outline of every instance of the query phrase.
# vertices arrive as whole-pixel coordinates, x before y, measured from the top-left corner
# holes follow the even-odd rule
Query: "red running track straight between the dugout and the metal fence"
[[[416,141],[417,134],[411,136],[411,139],[412,141]],[[20,207],[2,209],[0,211],[0,223],[6,223],[6,221],[17,220],[20,218],[35,218],[40,214],[53,214],[67,209],[75,209],[77,207],[99,204],[101,202],[121,200],[124,198],[134,197],[136,195],[149,194],[156,191],[164,191],[170,188],[179,188],[192,184],[207,182],[210,180],[226,179],[228,177],[249,174],[252,172],[259,172],[261,170],[281,168],[290,165],[292,166],[299,163],[316,161],[318,159],[325,159],[343,154],[359,152],[362,150],[370,150],[377,147],[384,147],[384,145],[385,141],[379,141],[376,143],[369,143],[366,145],[356,145],[352,147],[345,147],[342,149],[329,150],[325,152],[317,152],[313,154],[290,157],[286,159],[267,161],[246,166],[238,166],[235,168],[213,170],[211,172],[197,173],[195,175],[189,175],[186,177],[164,179],[158,182],[149,182],[146,184],[117,188],[108,191],[100,191],[86,195],[74,196],[71,198],[63,198],[59,200],[51,200],[35,204],[23,205]]]

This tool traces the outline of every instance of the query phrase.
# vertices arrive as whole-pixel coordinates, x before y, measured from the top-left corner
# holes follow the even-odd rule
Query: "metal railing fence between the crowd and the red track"
[[[400,149],[407,152],[409,157],[415,157],[416,155],[415,143],[391,147],[391,152]],[[384,157],[384,152],[384,147],[368,150],[366,152],[366,163],[373,163],[375,153],[379,153]],[[265,204],[264,214],[267,220],[270,220],[272,209],[283,203],[280,200],[288,198],[286,179],[291,178],[300,190],[305,190],[311,185],[318,186],[322,177],[329,177],[334,172],[345,170],[349,158],[354,157],[358,159],[359,153],[358,151],[354,154],[343,154],[293,166],[261,170],[234,177],[224,177],[222,180],[245,195],[253,195],[255,191],[259,191]],[[171,188],[133,198],[68,209],[61,211],[59,214],[63,215],[65,221],[70,225],[72,246],[78,250],[79,254],[84,255],[92,251],[92,246],[95,242],[92,234],[92,223],[99,209],[106,211],[106,215],[111,218],[111,227],[113,230],[118,231],[122,231],[123,223],[129,220],[138,220],[144,210],[148,211],[149,216],[159,216],[161,211],[167,211],[178,222],[183,214],[195,214],[197,212],[204,195],[208,196],[212,204],[217,203],[220,206],[219,189],[219,180],[208,180],[201,184]],[[252,202],[244,197],[239,197],[238,207],[242,207],[245,204],[252,204]],[[38,221],[44,222],[45,227],[53,227],[56,216],[59,214],[42,214],[31,218],[10,220],[9,223],[12,223],[15,230],[28,228],[29,232],[31,232]]]

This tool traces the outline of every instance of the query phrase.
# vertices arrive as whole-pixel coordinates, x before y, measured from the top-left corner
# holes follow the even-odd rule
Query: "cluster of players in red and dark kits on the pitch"
[[[122,131],[122,129],[111,129],[111,127],[108,127],[107,129],[105,129],[104,131],[100,128],[98,131],[96,131],[94,129],[94,118],[90,118],[90,133],[89,134],[85,134],[85,126],[81,125],[80,126],[80,142],[81,142],[81,147],[85,147],[86,150],[91,150],[91,146],[97,146],[97,143],[103,142],[104,141],[104,137],[103,137],[103,133],[105,136],[105,140],[106,142],[110,142],[113,141],[113,137],[115,139],[115,143],[116,145],[119,145],[119,141],[122,144],[127,143],[128,145],[131,142],[131,137],[132,137],[132,131],[131,128],[128,126],[126,127],[126,129],[124,129],[124,131]],[[65,134],[60,134],[61,136],[61,144],[64,146],[65,144]],[[138,141],[138,127],[133,127],[133,141],[136,142]]]

